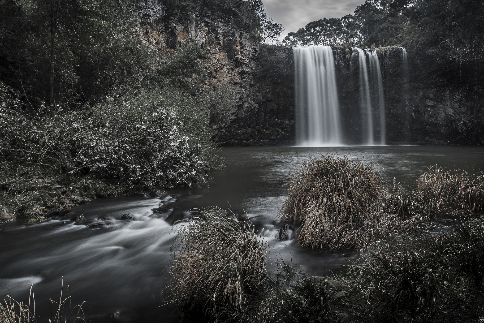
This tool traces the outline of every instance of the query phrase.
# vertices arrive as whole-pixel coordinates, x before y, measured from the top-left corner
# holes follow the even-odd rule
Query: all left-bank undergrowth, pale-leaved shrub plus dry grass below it
[[[38,219],[46,198],[65,193],[56,186],[92,198],[206,185],[223,165],[211,141],[211,120],[227,108],[217,91],[153,88],[62,111],[26,105],[0,82],[0,206]]]

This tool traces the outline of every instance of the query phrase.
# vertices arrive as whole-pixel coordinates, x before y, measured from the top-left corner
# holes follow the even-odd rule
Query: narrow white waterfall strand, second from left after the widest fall
[[[373,146],[373,113],[370,98],[370,84],[368,81],[368,70],[366,67],[366,55],[363,49],[351,47],[358,52],[358,69],[360,72],[360,102],[363,120],[363,145]]]

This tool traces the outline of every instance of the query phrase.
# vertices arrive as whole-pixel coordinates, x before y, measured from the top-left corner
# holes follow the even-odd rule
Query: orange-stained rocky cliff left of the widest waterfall
[[[136,10],[140,32],[160,60],[195,41],[210,53],[205,86],[233,86],[236,108],[219,125],[216,142],[222,146],[290,142],[294,133],[290,48],[262,46],[230,17],[210,12],[174,15],[156,0],[140,1]]]

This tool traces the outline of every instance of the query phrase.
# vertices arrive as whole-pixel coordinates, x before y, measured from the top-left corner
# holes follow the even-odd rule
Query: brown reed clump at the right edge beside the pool
[[[435,166],[417,177],[416,193],[433,211],[484,212],[484,174]]]

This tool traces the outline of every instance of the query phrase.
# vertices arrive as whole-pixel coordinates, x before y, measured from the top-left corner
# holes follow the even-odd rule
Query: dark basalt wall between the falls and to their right
[[[376,48],[385,97],[388,144],[484,144],[484,92],[444,72],[430,75],[408,55],[407,71],[402,47]],[[358,62],[350,64],[350,47],[333,47],[337,66],[342,123],[347,140],[359,143],[363,114],[360,110]],[[378,129],[376,129],[378,130]]]

